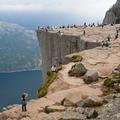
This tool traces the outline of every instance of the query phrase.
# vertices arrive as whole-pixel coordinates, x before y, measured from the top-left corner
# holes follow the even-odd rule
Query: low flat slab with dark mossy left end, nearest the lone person
[[[65,111],[65,107],[64,106],[46,106],[45,107],[45,112],[46,113],[51,113],[51,112],[64,112]]]

